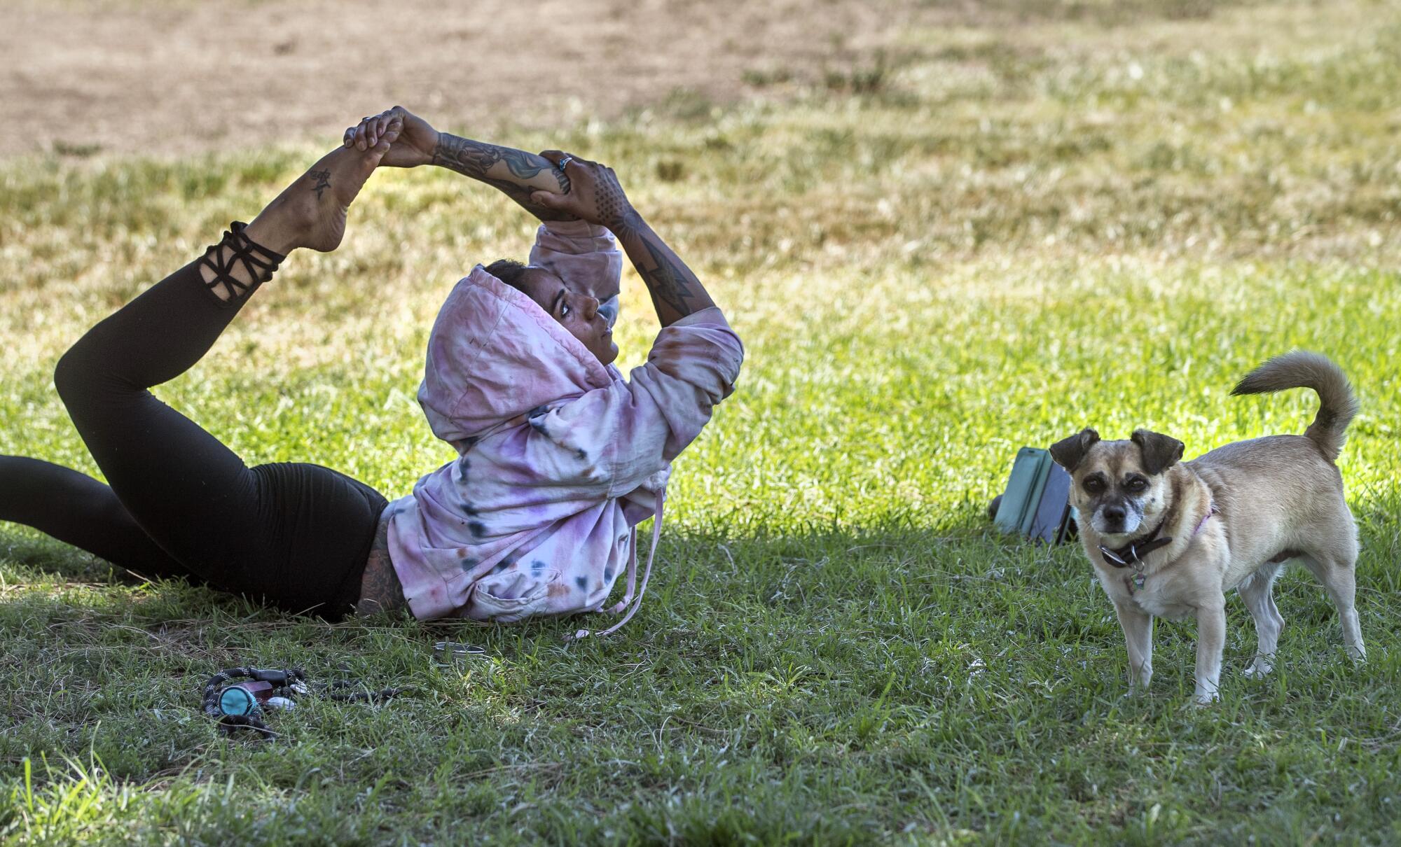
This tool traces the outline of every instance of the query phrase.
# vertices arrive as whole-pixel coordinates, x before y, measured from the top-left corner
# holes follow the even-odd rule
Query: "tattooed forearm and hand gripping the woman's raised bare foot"
[[[373,147],[395,120],[403,129],[389,147],[382,164],[394,168],[439,165],[499,189],[542,221],[574,220],[573,216],[546,209],[531,200],[531,192],[563,193],[569,190],[569,179],[553,162],[524,150],[497,147],[485,141],[440,133],[427,120],[403,106],[394,106],[347,129],[346,147],[359,147],[360,150]]]

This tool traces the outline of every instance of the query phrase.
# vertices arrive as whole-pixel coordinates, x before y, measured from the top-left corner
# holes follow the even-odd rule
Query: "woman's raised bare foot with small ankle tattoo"
[[[322,253],[336,249],[345,237],[350,203],[401,129],[399,123],[391,125],[370,150],[338,147],[321,157],[248,224],[248,238],[279,253],[301,246]]]

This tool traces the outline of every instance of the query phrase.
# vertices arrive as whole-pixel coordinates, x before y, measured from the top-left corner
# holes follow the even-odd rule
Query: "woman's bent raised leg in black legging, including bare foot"
[[[286,567],[268,561],[286,549],[286,539],[269,538],[269,522],[287,524],[269,518],[279,493],[266,490],[268,473],[249,469],[149,389],[209,351],[282,253],[339,245],[346,209],[392,140],[325,155],[252,224],[235,225],[202,259],[88,330],[55,371],[78,434],[130,518],[174,560],[221,588],[268,595],[259,566]],[[368,539],[373,522],[366,532]]]

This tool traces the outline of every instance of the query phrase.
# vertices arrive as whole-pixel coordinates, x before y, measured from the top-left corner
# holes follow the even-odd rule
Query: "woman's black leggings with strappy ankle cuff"
[[[385,498],[319,465],[248,468],[147,391],[199,361],[242,300],[214,298],[192,262],[88,330],[53,382],[111,487],[0,456],[0,519],[142,574],[336,619],[359,599]]]

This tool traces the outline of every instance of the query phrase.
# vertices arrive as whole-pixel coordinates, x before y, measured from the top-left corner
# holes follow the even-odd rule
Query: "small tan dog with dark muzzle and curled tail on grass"
[[[1269,673],[1285,623],[1271,588],[1289,559],[1328,589],[1348,654],[1366,657],[1353,608],[1358,529],[1334,465],[1358,400],[1338,365],[1304,351],[1271,358],[1231,393],[1288,388],[1311,388],[1323,403],[1303,435],[1237,441],[1181,463],[1182,442],[1147,430],[1129,441],[1083,430],[1051,447],[1072,476],[1084,552],[1124,627],[1131,687],[1153,676],[1153,617],[1195,615],[1194,701],[1215,700],[1231,588],[1259,638],[1245,675]]]

